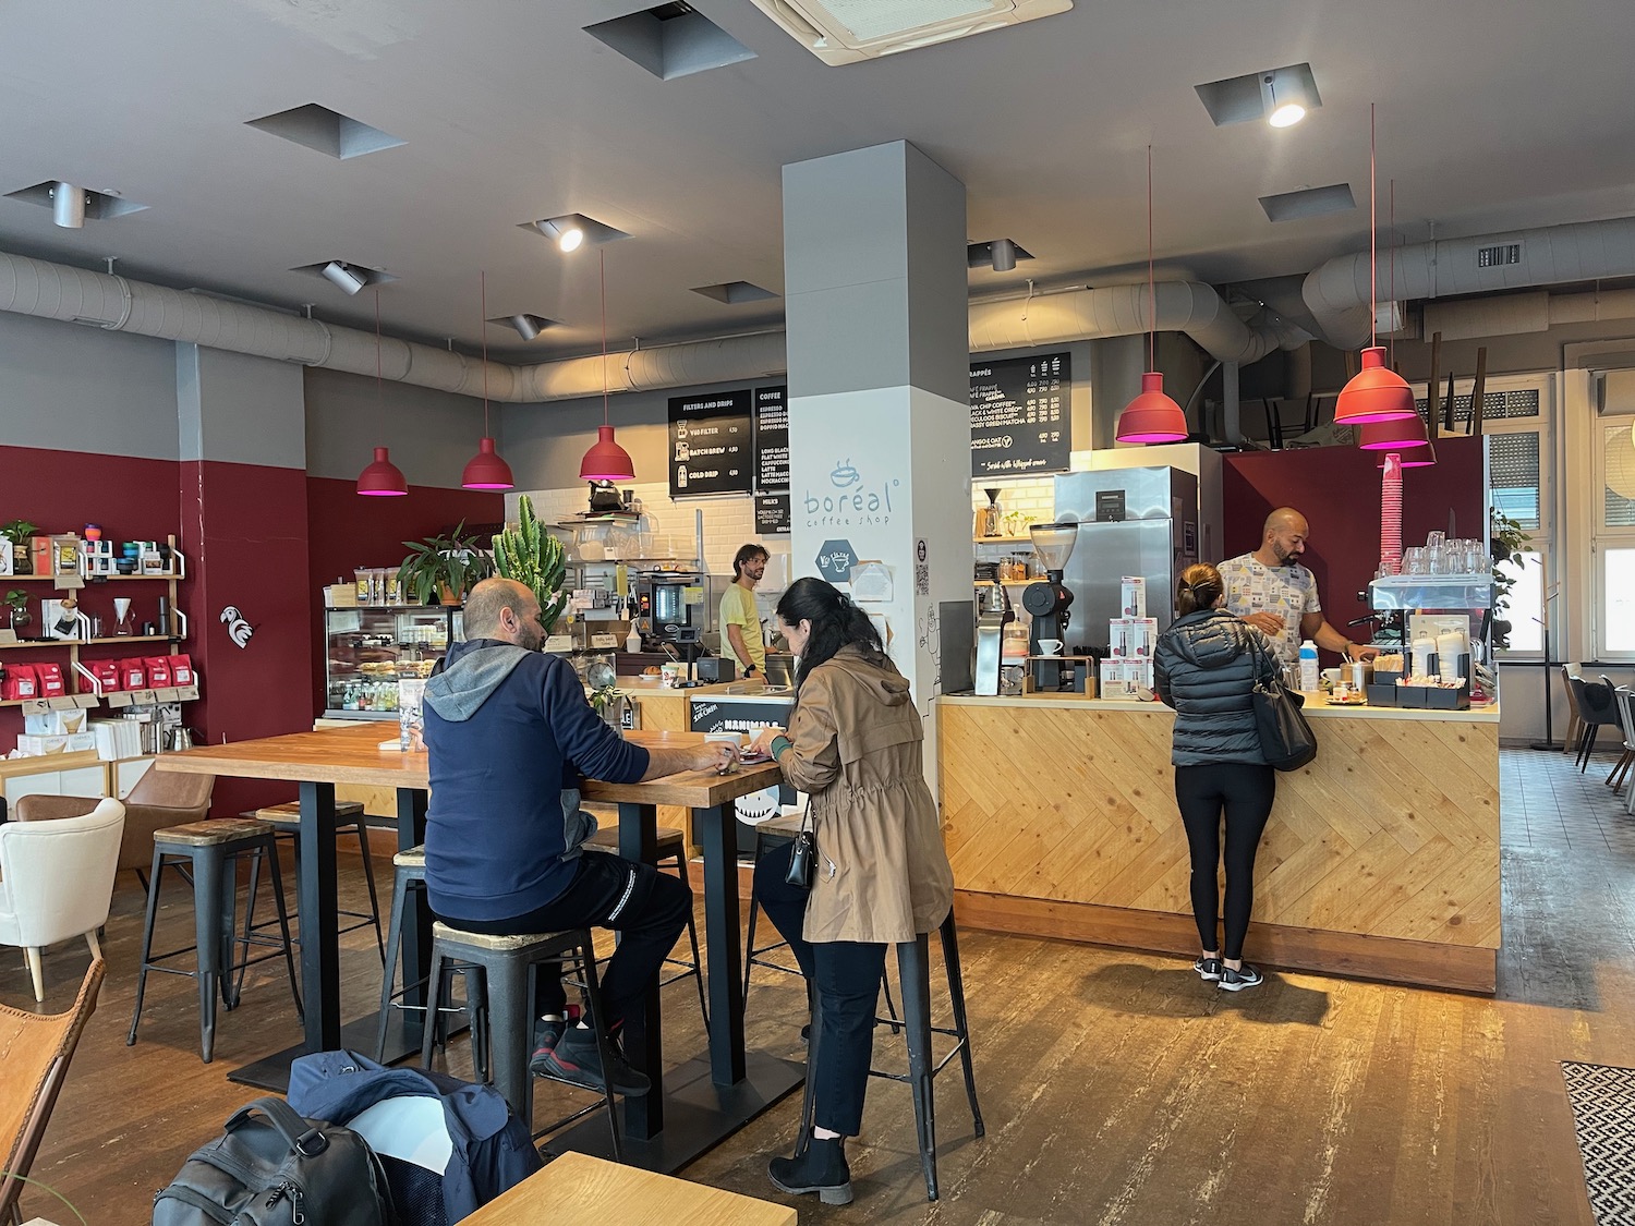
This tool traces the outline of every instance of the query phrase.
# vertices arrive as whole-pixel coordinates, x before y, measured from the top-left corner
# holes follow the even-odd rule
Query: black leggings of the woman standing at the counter
[[[1192,850],[1192,917],[1205,950],[1216,948],[1221,812],[1226,814],[1226,943],[1221,956],[1243,958],[1254,907],[1254,853],[1277,793],[1277,772],[1244,762],[1176,767],[1176,803]]]

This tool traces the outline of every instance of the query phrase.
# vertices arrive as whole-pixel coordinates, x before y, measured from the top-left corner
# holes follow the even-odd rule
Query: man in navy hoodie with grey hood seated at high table
[[[450,644],[425,687],[432,803],[425,879],[432,911],[464,932],[531,933],[605,927],[620,933],[602,979],[620,1094],[647,1077],[618,1046],[628,1013],[674,948],[693,906],[679,878],[615,855],[580,855],[595,826],[579,812],[580,776],[636,783],[683,770],[721,770],[729,744],[644,749],[590,709],[567,660],[540,651],[540,602],[523,584],[486,579],[466,602],[464,642]],[[567,793],[567,804],[564,804]],[[541,976],[541,1012],[561,997]],[[580,1022],[536,1053],[536,1072],[602,1089],[595,1033]]]

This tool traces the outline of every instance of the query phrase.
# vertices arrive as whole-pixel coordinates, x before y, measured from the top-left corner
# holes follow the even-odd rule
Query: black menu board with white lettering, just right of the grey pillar
[[[1066,353],[971,363],[971,476],[1066,472],[1073,450]]]

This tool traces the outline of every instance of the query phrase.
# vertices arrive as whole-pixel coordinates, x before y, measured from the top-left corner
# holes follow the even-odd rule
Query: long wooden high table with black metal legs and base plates
[[[383,750],[389,726],[294,732],[262,741],[204,745],[162,754],[159,770],[234,778],[288,780],[301,786],[301,986],[306,1004],[304,1041],[229,1074],[234,1081],[283,1090],[289,1061],[309,1051],[340,1046],[371,1049],[378,1013],[342,1027],[340,945],[335,901],[335,785],[361,783],[397,793],[397,847],[425,842],[427,755]],[[698,744],[697,732],[631,732],[638,745]],[[693,837],[705,857],[705,940],[708,948],[710,1053],[664,1071],[657,976],[647,989],[641,1017],[625,1022],[625,1051],[652,1079],[646,1097],[626,1098],[625,1157],[651,1170],[677,1170],[729,1136],[801,1084],[801,1066],[744,1049],[742,951],[736,816],[732,801],[782,778],[775,763],[741,767],[729,775],[685,772],[647,783],[587,781],[585,799],[611,801],[620,812],[620,855],[651,863],[657,847],[656,806],[693,811]],[[402,974],[412,984],[427,976],[432,956],[432,919],[412,901],[404,925]],[[410,997],[410,1004],[423,1004]],[[387,1046],[387,1063],[420,1049],[420,1015],[405,1013]],[[551,1151],[611,1152],[607,1125],[587,1120]]]

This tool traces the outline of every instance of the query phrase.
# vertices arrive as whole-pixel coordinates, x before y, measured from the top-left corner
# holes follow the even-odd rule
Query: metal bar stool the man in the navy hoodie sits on
[[[597,1053],[602,1067],[613,1067],[611,1046],[602,1028],[607,1017],[602,1007],[602,986],[597,981],[597,951],[589,928],[569,928],[567,932],[541,932],[517,937],[492,937],[477,932],[461,932],[446,924],[432,925],[432,978],[427,984],[427,1000],[437,1000],[443,981],[446,963],[474,963],[482,968],[481,991],[486,994],[486,1017],[489,1022],[489,1061],[492,1064],[492,1082],[517,1118],[533,1131],[533,1072],[528,1069],[528,1058],[533,1048],[533,981],[541,963],[574,963],[579,968],[585,1000],[590,1017],[597,1018]],[[468,991],[477,981],[466,981]],[[425,1038],[420,1041],[420,1066],[432,1067],[432,1035],[435,1027],[425,1027]],[[554,1081],[554,1079],[553,1079]],[[613,1102],[610,1079],[603,1079],[602,1103],[580,1108],[579,1112],[558,1120],[543,1131],[554,1131],[587,1112],[605,1105],[608,1126],[613,1130],[613,1157],[623,1162],[620,1146],[618,1107]]]

